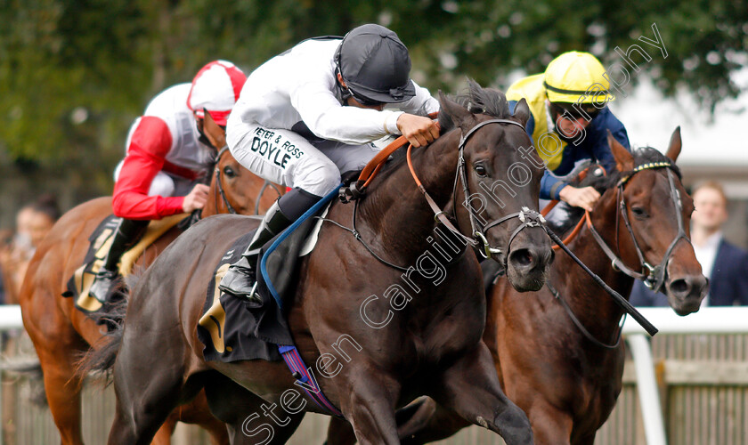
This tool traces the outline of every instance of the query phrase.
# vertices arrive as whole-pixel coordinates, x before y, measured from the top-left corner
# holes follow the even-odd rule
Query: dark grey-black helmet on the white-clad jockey
[[[402,102],[416,95],[408,48],[383,26],[352,29],[337,46],[335,62],[354,99],[364,105]]]

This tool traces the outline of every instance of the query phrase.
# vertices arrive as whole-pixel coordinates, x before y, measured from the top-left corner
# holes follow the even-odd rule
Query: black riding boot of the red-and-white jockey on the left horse
[[[149,221],[127,220],[122,218],[114,231],[110,251],[104,258],[102,268],[96,272],[88,295],[104,303],[114,281],[119,277],[119,258],[133,247],[142,237]]]

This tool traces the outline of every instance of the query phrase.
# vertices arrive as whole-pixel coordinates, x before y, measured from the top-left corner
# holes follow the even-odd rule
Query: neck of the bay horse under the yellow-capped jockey
[[[615,223],[616,218],[619,216],[616,213],[618,202],[615,197],[614,192],[609,194],[608,197],[604,197],[607,199],[607,202],[602,206],[598,206],[598,212],[595,212],[591,218],[592,223],[600,236],[606,240],[608,247],[619,255],[625,264],[633,265],[633,258],[630,255],[630,248],[628,248],[628,244],[630,244],[628,234],[624,237],[620,236],[621,234],[619,233],[618,237],[623,255],[616,247],[615,231],[616,228],[619,231],[622,230],[622,223],[618,225]],[[593,271],[600,279],[603,279],[616,292],[626,298],[629,297],[634,279],[614,269],[611,260],[607,257],[603,249],[598,246],[598,242],[587,227],[587,224],[583,225],[579,235],[570,247],[574,255],[582,263],[585,263],[590,271]],[[555,269],[562,271],[563,275],[557,275],[557,277],[563,276],[563,278],[559,279],[559,284],[563,281],[564,285],[557,287],[557,290],[569,303],[574,315],[581,320],[585,328],[588,328],[593,335],[597,334],[600,340],[609,341],[611,337],[608,334],[618,328],[617,321],[622,316],[621,308],[618,304],[614,303],[613,297],[607,295],[606,291],[582,271],[578,265],[573,263],[573,260],[568,255],[561,255],[563,255],[562,262],[559,262]],[[580,278],[567,278],[570,276],[569,271],[578,273]]]

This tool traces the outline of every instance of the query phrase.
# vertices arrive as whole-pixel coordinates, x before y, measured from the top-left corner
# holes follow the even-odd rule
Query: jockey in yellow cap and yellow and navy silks
[[[630,148],[626,128],[608,109],[614,100],[605,69],[590,53],[569,52],[549,63],[545,73],[524,77],[509,86],[509,109],[524,98],[531,117],[527,133],[547,167],[541,182],[541,198],[560,199],[591,210],[600,195],[592,187],[576,188],[565,178],[586,159],[615,168],[607,143],[607,131]],[[527,157],[526,159],[532,159]]]

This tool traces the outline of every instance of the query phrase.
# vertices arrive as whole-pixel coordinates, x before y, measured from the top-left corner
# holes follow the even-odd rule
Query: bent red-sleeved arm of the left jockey
[[[154,220],[183,212],[183,197],[148,196],[150,183],[163,168],[172,136],[159,117],[145,116],[137,124],[114,184],[112,210],[126,219]]]

